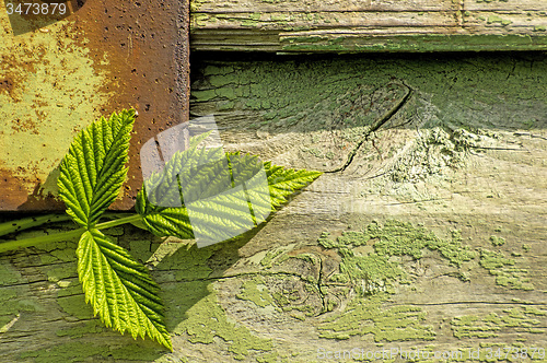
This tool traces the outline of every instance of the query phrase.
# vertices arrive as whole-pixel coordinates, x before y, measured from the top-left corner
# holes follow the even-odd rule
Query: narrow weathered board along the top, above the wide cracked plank
[[[191,48],[335,52],[545,50],[546,10],[544,0],[195,0]]]

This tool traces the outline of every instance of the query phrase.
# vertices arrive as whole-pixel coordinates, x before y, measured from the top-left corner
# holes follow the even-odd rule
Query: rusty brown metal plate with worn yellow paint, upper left
[[[188,119],[188,1],[74,0],[58,13],[53,4],[0,3],[0,210],[63,209],[57,167],[73,137],[133,107],[129,179],[113,204],[130,209],[140,147]]]

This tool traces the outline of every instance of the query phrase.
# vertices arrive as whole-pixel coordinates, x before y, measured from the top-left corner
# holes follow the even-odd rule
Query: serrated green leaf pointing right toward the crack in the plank
[[[220,241],[223,235],[243,233],[256,225],[256,216],[260,223],[269,210],[322,174],[265,163],[267,182],[261,183],[263,164],[256,156],[224,154],[222,148],[198,149],[202,139],[193,138],[190,148],[176,152],[137,196],[136,210],[153,234]],[[264,192],[266,183],[269,187]],[[190,206],[188,201],[191,212],[185,206]]]

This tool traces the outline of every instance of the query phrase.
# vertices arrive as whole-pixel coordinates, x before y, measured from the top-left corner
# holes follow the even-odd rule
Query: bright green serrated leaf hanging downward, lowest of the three
[[[135,339],[148,335],[173,350],[160,288],[144,266],[95,229],[83,233],[77,256],[85,302],[91,302],[107,327],[121,333],[128,330]]]

